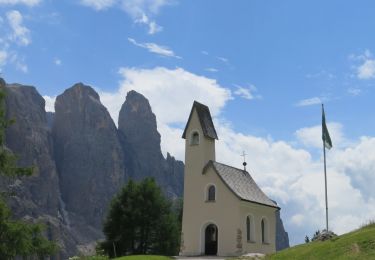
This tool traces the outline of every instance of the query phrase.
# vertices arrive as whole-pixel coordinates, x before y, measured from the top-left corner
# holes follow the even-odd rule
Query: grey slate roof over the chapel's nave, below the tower
[[[279,208],[274,201],[264,194],[247,171],[209,161],[204,167],[203,173],[211,166],[229,189],[241,200]]]

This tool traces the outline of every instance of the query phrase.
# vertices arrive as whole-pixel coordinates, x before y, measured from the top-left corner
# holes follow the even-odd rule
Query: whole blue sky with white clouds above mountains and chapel
[[[0,76],[54,99],[92,86],[117,123],[129,90],[184,160],[192,103],[210,107],[217,160],[248,169],[281,207],[291,244],[375,219],[375,2],[0,0]]]

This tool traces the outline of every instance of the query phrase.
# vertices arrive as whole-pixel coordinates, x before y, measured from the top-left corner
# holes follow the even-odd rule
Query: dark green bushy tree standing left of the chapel
[[[171,202],[153,178],[130,180],[113,198],[104,222],[106,240],[99,244],[110,257],[127,254],[174,255],[179,224]]]

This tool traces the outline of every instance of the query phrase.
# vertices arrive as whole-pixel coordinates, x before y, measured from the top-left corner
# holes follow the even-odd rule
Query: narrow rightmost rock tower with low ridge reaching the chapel
[[[118,129],[130,177],[139,180],[152,176],[168,196],[182,196],[183,163],[169,154],[167,159],[163,157],[156,117],[143,95],[128,92],[120,110]]]

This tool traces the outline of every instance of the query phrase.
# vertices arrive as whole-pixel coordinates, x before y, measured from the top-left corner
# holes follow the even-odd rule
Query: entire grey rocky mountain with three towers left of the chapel
[[[127,96],[117,129],[99,95],[82,83],[56,98],[55,113],[45,112],[32,86],[0,78],[0,88],[6,116],[15,119],[6,145],[19,165],[36,168],[31,177],[0,178],[0,188],[16,194],[9,198],[16,218],[46,224],[46,235],[61,247],[56,259],[93,251],[109,202],[129,178],[155,177],[168,196],[182,195],[184,165],[163,157],[155,115],[142,95]]]

